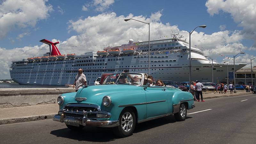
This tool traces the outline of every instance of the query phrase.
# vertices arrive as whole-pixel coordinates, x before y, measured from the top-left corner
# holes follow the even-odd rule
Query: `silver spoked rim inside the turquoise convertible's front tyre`
[[[122,128],[124,132],[129,132],[132,129],[133,117],[129,112],[124,113],[121,120]]]

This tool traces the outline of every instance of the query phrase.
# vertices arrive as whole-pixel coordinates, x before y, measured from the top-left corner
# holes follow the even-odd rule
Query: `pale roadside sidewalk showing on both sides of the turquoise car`
[[[221,94],[219,92],[203,92],[203,99],[212,99],[218,97],[229,97],[251,94],[252,92],[236,91],[234,94]],[[58,104],[46,104],[15,108],[0,108],[0,125],[11,124],[26,121],[36,121],[51,119],[59,111]]]

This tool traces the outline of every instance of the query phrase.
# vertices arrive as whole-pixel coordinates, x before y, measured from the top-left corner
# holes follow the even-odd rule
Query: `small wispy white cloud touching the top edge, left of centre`
[[[103,12],[114,3],[115,0],[92,0],[92,2],[83,5],[82,11],[88,11],[88,7],[94,7],[95,11]]]

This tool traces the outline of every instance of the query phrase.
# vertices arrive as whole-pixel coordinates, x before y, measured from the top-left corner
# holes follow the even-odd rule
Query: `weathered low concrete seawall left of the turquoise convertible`
[[[60,94],[75,92],[73,88],[4,88],[0,89],[0,108],[57,103]]]

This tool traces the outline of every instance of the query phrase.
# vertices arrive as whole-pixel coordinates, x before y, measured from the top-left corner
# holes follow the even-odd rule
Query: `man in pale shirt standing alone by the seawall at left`
[[[84,86],[86,86],[86,76],[83,74],[83,69],[79,68],[78,69],[78,73],[76,75],[75,78],[75,82],[73,85],[73,88],[76,86],[76,92],[78,91],[78,89],[82,88]]]

